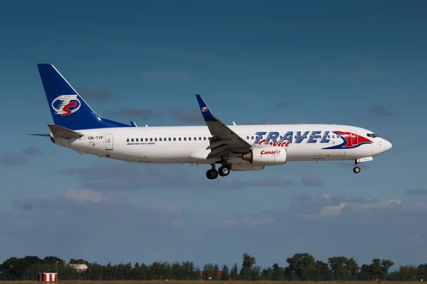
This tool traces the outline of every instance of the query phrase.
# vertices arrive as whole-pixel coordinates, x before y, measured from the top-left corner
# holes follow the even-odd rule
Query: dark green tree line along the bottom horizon
[[[273,263],[262,268],[255,257],[243,253],[241,266],[234,263],[206,263],[203,267],[192,261],[145,263],[89,263],[71,258],[68,263],[56,256],[26,256],[8,258],[0,266],[0,280],[35,280],[37,273],[58,272],[59,280],[420,280],[427,279],[427,263],[420,266],[401,266],[390,271],[394,262],[374,258],[369,264],[357,263],[354,258],[332,256],[327,261],[315,259],[310,253],[295,253],[286,259],[286,266]],[[76,271],[72,264],[85,264],[88,269]]]

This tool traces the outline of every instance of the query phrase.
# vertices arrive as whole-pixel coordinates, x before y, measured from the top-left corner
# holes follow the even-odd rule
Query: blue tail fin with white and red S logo
[[[37,67],[55,124],[73,130],[132,127],[98,116],[53,65]]]

